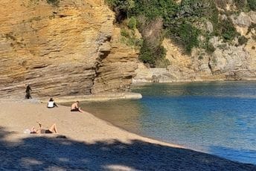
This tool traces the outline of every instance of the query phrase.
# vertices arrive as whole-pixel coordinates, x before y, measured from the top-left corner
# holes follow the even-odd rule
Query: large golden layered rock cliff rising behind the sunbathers
[[[33,97],[129,88],[138,52],[114,18],[101,0],[1,1],[0,97],[24,97],[26,84]]]

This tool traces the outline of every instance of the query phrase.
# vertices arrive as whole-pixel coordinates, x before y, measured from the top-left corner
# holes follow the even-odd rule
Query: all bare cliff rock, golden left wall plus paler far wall
[[[132,81],[256,80],[253,11],[220,14],[248,41],[211,37],[211,54],[202,48],[185,54],[165,38],[167,68],[139,63],[138,50],[128,45],[140,45],[137,30],[131,36],[115,25],[115,17],[103,0],[2,0],[0,97],[24,97],[27,84],[33,97],[55,97],[127,91]],[[200,27],[212,32],[213,25]]]

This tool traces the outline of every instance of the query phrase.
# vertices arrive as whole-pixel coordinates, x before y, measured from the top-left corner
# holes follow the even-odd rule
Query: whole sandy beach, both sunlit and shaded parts
[[[47,109],[27,100],[0,102],[0,109],[0,170],[256,170],[132,134],[65,106]],[[25,132],[37,120],[43,127],[56,123],[59,134]]]

